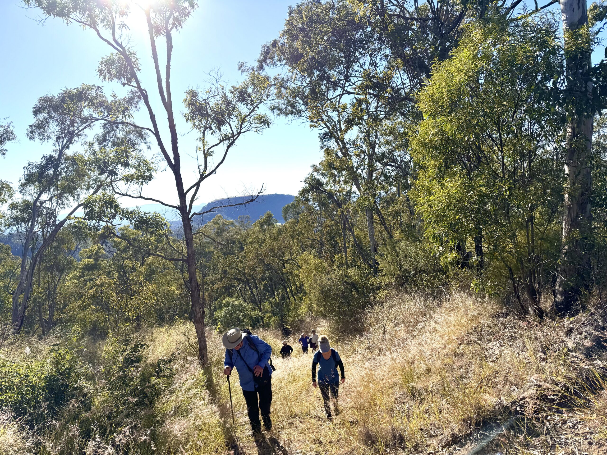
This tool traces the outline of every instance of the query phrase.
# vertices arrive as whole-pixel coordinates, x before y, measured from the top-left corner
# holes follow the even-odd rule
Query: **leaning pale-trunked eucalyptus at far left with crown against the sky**
[[[40,161],[24,167],[19,198],[8,206],[7,227],[21,236],[23,252],[19,280],[13,291],[12,324],[18,333],[32,291],[33,275],[59,231],[84,206],[87,198],[111,188],[123,178],[138,180],[146,168],[139,147],[143,136],[127,124],[138,103],[132,96],[108,99],[101,87],[83,85],[58,95],[42,96],[33,107],[34,122],[27,138],[48,144]],[[112,147],[102,127],[95,141],[86,141],[95,124],[114,119]],[[120,123],[120,125],[118,125]],[[71,152],[83,144],[84,150]]]

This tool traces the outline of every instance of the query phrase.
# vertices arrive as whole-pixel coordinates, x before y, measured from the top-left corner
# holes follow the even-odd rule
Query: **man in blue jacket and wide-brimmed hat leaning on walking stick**
[[[253,434],[262,430],[259,411],[262,411],[263,426],[271,430],[270,406],[272,404],[272,348],[257,335],[248,335],[240,329],[229,329],[223,334],[226,348],[223,374],[229,376],[236,366],[240,387],[245,396],[246,411],[251,420]],[[268,363],[270,361],[270,363]],[[259,395],[259,401],[257,396]]]

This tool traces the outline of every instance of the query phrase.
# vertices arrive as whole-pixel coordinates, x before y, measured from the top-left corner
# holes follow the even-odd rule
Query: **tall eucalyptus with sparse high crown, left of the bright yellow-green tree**
[[[304,1],[291,8],[280,37],[263,47],[259,66],[279,70],[276,112],[319,129],[325,155],[341,161],[345,184],[356,189],[353,202],[365,214],[376,269],[381,126],[401,109],[397,101],[412,96],[401,83],[402,66],[359,19],[346,1]]]

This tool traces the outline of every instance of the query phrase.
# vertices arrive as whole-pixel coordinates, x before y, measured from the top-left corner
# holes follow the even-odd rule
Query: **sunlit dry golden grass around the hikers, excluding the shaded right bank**
[[[532,409],[538,390],[572,380],[577,374],[572,371],[573,346],[583,342],[567,335],[577,322],[521,321],[492,300],[469,294],[455,294],[441,303],[402,296],[374,308],[367,320],[363,335],[333,343],[344,359],[347,380],[340,388],[342,414],[332,424],[324,417],[319,391],[311,386],[311,354],[302,354],[291,339],[294,356],[287,360],[274,356],[272,434],[289,453],[368,454],[452,447],[483,422],[506,416],[508,403],[529,398],[526,407]],[[183,340],[192,343],[191,334],[176,330],[170,329],[174,335],[167,340],[177,339],[173,343],[181,346],[188,345]],[[166,355],[169,341],[155,345],[158,333],[154,332],[151,352]],[[279,350],[278,334],[259,334],[274,352]],[[193,354],[192,350],[188,356],[191,362]],[[199,398],[190,400],[178,419],[168,419],[166,431],[174,435],[175,447],[185,441],[180,446],[185,453],[219,453],[234,442],[234,436],[240,451],[255,453],[237,374],[232,377],[236,428],[231,426],[217,334],[209,334],[209,356],[221,405],[208,411],[212,400],[203,393],[202,382],[197,388],[189,385],[200,371],[183,366],[183,379],[178,379],[163,406],[183,394],[180,388],[197,391]],[[175,422],[180,422],[181,433],[174,430]],[[201,450],[191,451],[196,438],[202,437],[197,430],[201,425],[212,428],[205,430],[207,435],[223,440],[205,436],[198,444]],[[186,436],[180,439],[178,434]]]

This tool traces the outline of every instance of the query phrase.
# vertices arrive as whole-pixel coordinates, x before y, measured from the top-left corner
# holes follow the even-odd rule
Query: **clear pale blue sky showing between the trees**
[[[174,102],[189,87],[203,87],[208,73],[219,69],[229,83],[242,76],[239,61],[253,62],[263,43],[276,38],[288,6],[294,1],[202,0],[185,29],[175,38],[173,79]],[[13,122],[19,141],[9,144],[6,158],[0,158],[0,179],[16,183],[27,161],[38,160],[45,147],[25,138],[31,123],[31,109],[39,96],[57,93],[82,83],[101,84],[95,70],[99,59],[109,53],[90,30],[66,26],[55,19],[40,24],[36,10],[26,10],[16,0],[0,1],[0,118]],[[144,35],[143,16],[131,22],[132,42],[140,58],[148,61],[149,41]],[[144,68],[144,74],[146,73]],[[149,74],[149,72],[148,72]],[[152,83],[149,78],[144,83]],[[121,92],[120,86],[106,86]],[[180,106],[181,107],[181,106]],[[182,109],[180,109],[182,110]],[[141,117],[144,120],[143,116]],[[181,133],[187,129],[182,125]],[[180,149],[189,153],[195,133],[180,139]],[[243,189],[266,193],[296,194],[310,166],[321,159],[317,132],[300,123],[275,120],[262,135],[250,133],[228,156],[220,172],[205,183],[200,203]],[[189,161],[193,164],[193,161]],[[185,171],[187,177],[187,171]],[[193,173],[191,174],[193,178]],[[172,176],[166,172],[146,189],[146,195],[166,198],[174,192]],[[135,205],[124,201],[125,205]]]

